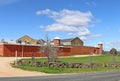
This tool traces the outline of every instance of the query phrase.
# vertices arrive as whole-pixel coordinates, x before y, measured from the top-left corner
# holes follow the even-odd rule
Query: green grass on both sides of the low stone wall
[[[120,56],[115,56],[116,62],[120,62]],[[29,60],[29,59],[27,59]],[[47,61],[46,58],[37,58],[36,61]],[[70,58],[58,58],[58,61],[62,62],[72,62],[72,63],[112,63],[113,56],[94,56],[94,57],[70,57]],[[53,67],[35,67],[30,65],[24,66],[15,66],[16,68],[21,68],[24,70],[30,71],[40,71],[45,73],[80,73],[80,72],[99,72],[99,71],[113,71],[113,70],[120,70],[120,68],[113,68],[113,67],[100,67],[100,68],[53,68]]]

